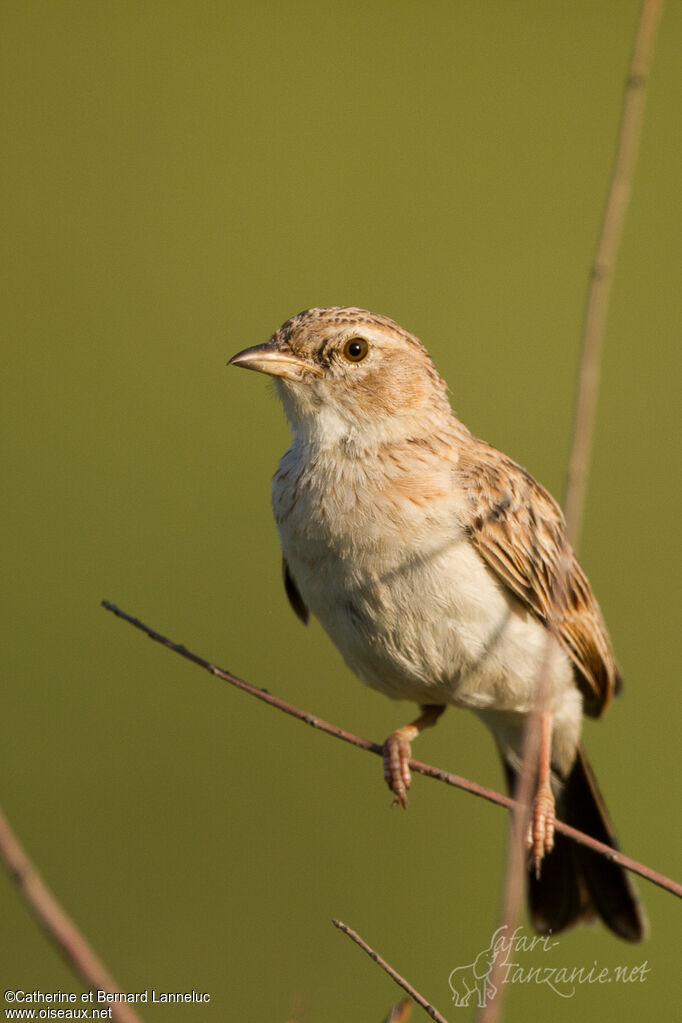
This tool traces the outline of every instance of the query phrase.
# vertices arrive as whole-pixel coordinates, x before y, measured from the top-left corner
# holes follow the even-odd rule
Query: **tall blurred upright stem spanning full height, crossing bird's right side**
[[[646,83],[651,66],[656,32],[663,10],[663,0],[643,0],[639,24],[635,35],[630,66],[626,80],[625,95],[621,112],[619,140],[611,172],[603,221],[597,251],[590,273],[585,316],[583,321],[583,342],[576,411],[574,416],[573,444],[569,458],[565,482],[564,508],[566,532],[575,548],[578,547],[585,510],[587,479],[594,438],[594,424],[603,350],[604,324],[608,310],[608,299],[613,276],[613,267],[623,224],[630,201],[637,150],[644,114]],[[529,720],[524,749],[524,759],[519,775],[518,799],[522,807],[528,806],[532,780],[535,776],[538,748],[538,720],[542,706],[541,691],[546,686],[549,635],[543,667],[538,677],[536,710]],[[513,931],[520,911],[524,889],[524,831],[528,810],[512,814],[509,853],[503,896],[502,925]],[[561,829],[557,829],[561,830]],[[480,1023],[496,1023],[501,1011],[503,985],[496,983],[501,973],[501,964],[496,962],[491,977],[495,992],[479,1015]]]

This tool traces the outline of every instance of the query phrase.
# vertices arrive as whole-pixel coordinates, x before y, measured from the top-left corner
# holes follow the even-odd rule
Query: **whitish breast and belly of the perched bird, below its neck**
[[[311,612],[351,670],[391,697],[530,710],[546,631],[469,542],[450,466],[429,479],[427,501],[407,505],[370,470],[311,464],[295,448],[280,463],[275,518]],[[573,671],[562,654],[553,663],[558,697]]]

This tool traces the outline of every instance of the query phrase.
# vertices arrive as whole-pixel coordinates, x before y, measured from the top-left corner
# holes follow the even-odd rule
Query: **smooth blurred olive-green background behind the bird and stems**
[[[0,802],[127,990],[211,993],[144,1019],[452,1019],[496,926],[499,809],[229,688],[107,597],[252,682],[381,740],[409,719],[289,611],[269,506],[287,444],[226,369],[313,305],[385,313],[471,429],[561,495],[588,269],[635,0],[6,2]],[[664,15],[615,281],[582,555],[627,680],[586,726],[622,842],[682,874],[679,796],[680,45]],[[416,755],[493,786],[450,711]],[[679,903],[524,963],[644,983],[510,987],[510,1018],[672,1018]],[[0,877],[0,982],[80,991]],[[673,1008],[675,1007],[675,1009]],[[415,1011],[415,1019],[418,1013]],[[421,1018],[421,1017],[419,1017]]]

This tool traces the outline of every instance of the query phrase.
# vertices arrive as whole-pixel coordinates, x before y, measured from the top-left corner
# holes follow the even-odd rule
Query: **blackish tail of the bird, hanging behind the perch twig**
[[[515,772],[506,761],[504,766],[509,791],[513,792]],[[561,820],[618,849],[613,826],[582,748],[556,808]],[[529,872],[528,900],[531,921],[540,934],[556,934],[595,917],[626,941],[641,941],[648,931],[646,914],[628,872],[563,835],[556,835],[540,878],[535,877],[535,871]]]

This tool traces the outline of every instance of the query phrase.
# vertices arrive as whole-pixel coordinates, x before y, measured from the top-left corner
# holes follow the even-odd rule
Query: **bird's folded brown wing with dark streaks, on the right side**
[[[533,477],[483,441],[460,452],[456,471],[470,503],[469,536],[488,565],[573,660],[585,711],[598,716],[621,678],[558,504]]]

